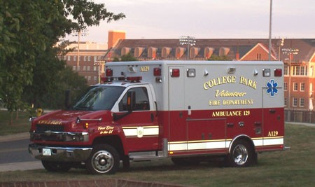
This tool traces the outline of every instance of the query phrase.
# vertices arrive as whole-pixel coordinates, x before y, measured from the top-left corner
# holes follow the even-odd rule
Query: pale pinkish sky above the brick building
[[[126,39],[268,39],[270,0],[94,0],[123,20],[88,27],[80,41],[107,43],[109,30]],[[315,39],[314,0],[272,0],[272,39]],[[67,36],[77,41],[78,36]]]

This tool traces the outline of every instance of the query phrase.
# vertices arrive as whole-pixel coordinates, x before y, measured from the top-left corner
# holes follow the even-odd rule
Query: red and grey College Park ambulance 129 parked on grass
[[[29,153],[48,171],[162,158],[246,167],[285,149],[282,62],[108,62],[102,81],[31,121]]]

